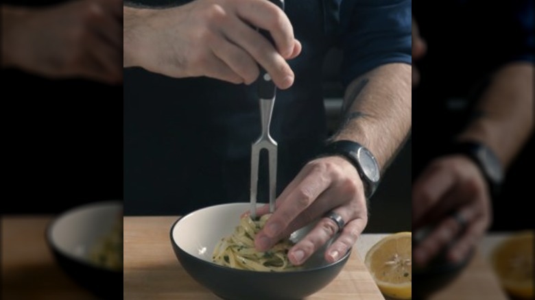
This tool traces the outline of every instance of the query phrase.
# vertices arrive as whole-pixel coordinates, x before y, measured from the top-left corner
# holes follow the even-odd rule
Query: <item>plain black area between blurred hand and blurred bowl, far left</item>
[[[122,199],[122,85],[2,70],[1,214]]]

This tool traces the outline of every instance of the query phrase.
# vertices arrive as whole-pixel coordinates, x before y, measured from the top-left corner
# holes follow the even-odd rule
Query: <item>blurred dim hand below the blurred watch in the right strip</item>
[[[451,212],[464,220],[465,228]],[[414,249],[414,261],[426,264],[453,241],[447,258],[462,260],[483,236],[491,218],[488,187],[474,162],[462,155],[438,158],[416,179],[412,190],[412,228],[437,224]]]

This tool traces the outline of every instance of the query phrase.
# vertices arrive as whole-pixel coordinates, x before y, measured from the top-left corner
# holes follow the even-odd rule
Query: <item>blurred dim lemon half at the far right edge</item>
[[[534,299],[533,242],[533,232],[518,232],[500,242],[490,257],[503,288],[521,299]]]

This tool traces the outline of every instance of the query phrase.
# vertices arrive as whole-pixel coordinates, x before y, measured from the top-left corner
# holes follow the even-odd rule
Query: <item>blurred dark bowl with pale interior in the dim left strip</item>
[[[89,203],[60,214],[47,227],[47,243],[59,266],[102,299],[122,299],[123,271],[94,262],[90,253],[114,228],[119,229],[119,221],[122,229],[122,212],[121,201]]]

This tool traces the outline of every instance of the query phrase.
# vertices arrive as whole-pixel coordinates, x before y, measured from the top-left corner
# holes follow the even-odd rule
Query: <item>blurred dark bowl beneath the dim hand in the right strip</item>
[[[423,236],[420,236],[420,240]],[[454,240],[449,245],[444,247],[438,255],[436,255],[425,266],[412,266],[412,297],[415,300],[427,299],[438,290],[446,288],[457,278],[460,273],[466,268],[468,263],[472,260],[475,249],[471,249],[468,255],[459,262],[451,262],[447,258],[447,252],[451,245],[456,242]],[[413,248],[416,245],[413,240]]]

